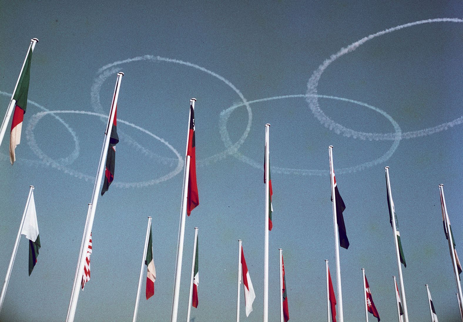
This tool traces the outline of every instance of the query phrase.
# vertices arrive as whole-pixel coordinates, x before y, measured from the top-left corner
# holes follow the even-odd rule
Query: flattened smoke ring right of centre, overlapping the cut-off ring
[[[274,96],[274,97],[262,98],[262,99],[258,99],[258,100],[254,100],[254,101],[248,101],[247,104],[263,102],[263,101],[281,100],[281,99],[287,99],[287,98],[297,98],[297,97],[305,97],[305,98],[307,98],[307,96],[308,95],[304,95],[304,94]],[[357,171],[360,171],[360,170],[375,166],[377,164],[380,164],[380,163],[388,160],[394,154],[395,150],[399,146],[402,130],[400,129],[399,124],[397,124],[397,122],[389,114],[387,114],[386,112],[384,112],[383,110],[381,110],[381,109],[379,109],[377,107],[371,106],[369,104],[366,104],[366,103],[363,103],[363,102],[360,102],[360,101],[350,100],[348,98],[337,97],[337,96],[329,96],[329,95],[316,95],[316,96],[321,97],[321,98],[328,98],[328,99],[332,99],[332,100],[346,101],[346,102],[358,104],[360,106],[368,107],[368,108],[382,114],[384,117],[386,117],[389,120],[389,122],[392,123],[392,125],[394,126],[394,129],[395,129],[393,144],[391,145],[389,150],[384,155],[382,155],[380,158],[377,158],[377,159],[375,159],[373,161],[358,164],[358,165],[355,165],[355,166],[352,166],[352,167],[336,169],[336,173],[357,172]],[[227,122],[228,122],[228,118],[230,117],[232,112],[237,107],[240,107],[240,106],[243,106],[243,105],[244,105],[243,103],[233,105],[233,106],[228,107],[227,109],[223,110],[220,113],[220,121],[219,121],[220,135],[221,135],[222,140],[224,141],[224,144],[225,144],[226,147],[232,145],[232,142],[230,140],[230,136],[228,134],[228,130],[227,130],[227,127],[226,127]],[[236,158],[238,158],[239,160],[243,161],[244,163],[250,164],[251,166],[253,166],[253,167],[257,168],[257,169],[263,170],[263,164],[262,163],[257,163],[253,159],[244,156],[243,154],[239,153],[238,151],[235,151],[234,156]],[[275,166],[271,166],[271,169],[272,169],[273,173],[297,174],[297,175],[325,176],[325,175],[328,175],[330,173],[329,170],[291,169],[291,168],[280,168],[280,167],[275,167]]]

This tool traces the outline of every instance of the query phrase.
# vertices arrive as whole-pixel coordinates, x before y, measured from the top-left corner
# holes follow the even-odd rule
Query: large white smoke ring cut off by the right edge
[[[336,122],[334,122],[332,119],[330,119],[328,116],[326,116],[325,113],[321,110],[318,102],[318,96],[317,94],[317,87],[318,83],[321,77],[321,74],[325,71],[325,69],[336,59],[339,57],[355,51],[357,47],[360,45],[364,44],[370,39],[373,39],[378,36],[382,36],[384,34],[394,32],[403,28],[411,27],[414,25],[422,25],[426,23],[432,23],[432,22],[463,22],[463,19],[458,19],[458,18],[437,18],[437,19],[427,19],[427,20],[419,20],[415,22],[410,22],[405,25],[398,25],[393,28],[389,28],[386,30],[383,30],[381,32],[376,32],[374,34],[371,34],[367,37],[364,37],[352,44],[350,44],[347,47],[341,48],[336,54],[333,54],[330,56],[330,58],[326,59],[319,67],[316,69],[312,76],[310,77],[309,81],[307,82],[307,102],[309,103],[309,107],[312,110],[312,113],[315,115],[315,117],[320,121],[321,124],[323,124],[325,127],[329,128],[330,130],[334,130],[335,133],[337,134],[343,134],[346,137],[352,136],[354,139],[369,139],[369,140],[395,140],[397,137],[397,132],[396,133],[365,133],[365,132],[357,132],[352,129],[349,129],[347,127],[344,127]],[[417,138],[425,135],[431,135],[433,133],[441,132],[444,130],[447,130],[448,128],[461,124],[463,123],[463,116],[450,121],[443,123],[438,126],[434,127],[429,127],[425,128],[422,130],[417,130],[417,131],[411,131],[411,132],[406,132],[401,134],[401,139],[412,139],[412,138]]]

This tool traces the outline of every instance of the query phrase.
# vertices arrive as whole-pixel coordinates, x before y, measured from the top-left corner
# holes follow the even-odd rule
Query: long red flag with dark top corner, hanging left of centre
[[[188,196],[187,215],[200,204],[198,196],[198,185],[196,184],[196,149],[194,139],[194,108],[190,105],[190,122],[188,129],[187,156],[190,156],[190,168],[188,169]]]

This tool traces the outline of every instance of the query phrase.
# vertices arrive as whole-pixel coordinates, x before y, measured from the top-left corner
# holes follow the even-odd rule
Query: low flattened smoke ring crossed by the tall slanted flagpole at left
[[[107,119],[107,116],[105,116],[104,114],[99,114],[99,113],[94,113],[94,112],[87,112],[87,111],[67,111],[67,110],[63,110],[63,111],[44,111],[44,112],[38,112],[37,114],[34,114],[32,115],[31,117],[31,120],[27,126],[27,129],[26,129],[26,133],[28,136],[31,136],[31,139],[33,139],[34,137],[34,134],[33,134],[33,130],[35,128],[35,126],[37,125],[38,121],[40,119],[42,119],[45,115],[47,114],[65,114],[65,113],[72,113],[72,114],[87,114],[87,115],[94,115],[94,116],[99,116],[99,117],[106,117]],[[172,152],[175,153],[175,155],[177,156],[177,159],[178,159],[178,163],[177,163],[177,167],[172,170],[171,172],[169,172],[167,175],[163,176],[163,177],[160,177],[160,178],[157,178],[157,179],[152,179],[152,180],[148,180],[148,181],[141,181],[141,182],[129,182],[129,183],[123,183],[123,182],[114,182],[113,185],[115,185],[116,187],[123,187],[123,188],[131,188],[131,187],[146,187],[146,186],[149,186],[149,185],[153,185],[153,184],[156,184],[156,183],[160,183],[160,182],[163,182],[163,181],[166,181],[166,180],[169,180],[170,178],[172,177],[175,177],[182,169],[183,169],[183,159],[181,158],[180,154],[177,152],[177,150],[175,150],[175,148],[169,144],[169,142],[167,142],[166,140],[156,136],[155,134],[149,132],[148,130],[145,130],[144,128],[140,127],[140,126],[137,126],[135,124],[132,124],[132,123],[129,123],[125,120],[121,120],[121,119],[118,119],[118,123],[123,123],[125,125],[128,125],[128,126],[131,126],[131,127],[134,127],[136,128],[137,130],[140,130],[148,135],[150,135],[151,137],[157,139],[158,141],[162,142],[164,145],[166,145]],[[34,141],[35,142],[35,141]],[[38,146],[36,145],[36,148],[38,149]],[[77,177],[77,178],[80,178],[80,179],[85,179],[86,181],[88,180],[94,180],[95,177],[92,177],[92,176],[88,176],[86,174],[83,174],[79,171],[76,171],[76,170],[72,170],[72,169],[69,169],[67,167],[65,167],[63,164],[59,164],[58,162],[56,162],[55,160],[53,160],[52,158],[48,157],[44,152],[42,152],[40,149],[38,149],[38,156],[39,158],[41,158],[43,160],[43,162],[47,165],[50,165],[51,167],[53,168],[56,168],[58,170],[62,170],[64,171],[65,173],[73,176],[73,177]]]

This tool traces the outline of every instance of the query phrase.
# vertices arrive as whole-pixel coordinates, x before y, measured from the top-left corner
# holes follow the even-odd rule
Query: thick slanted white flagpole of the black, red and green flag
[[[88,206],[90,211],[88,212],[88,215],[87,215],[87,222],[86,222],[87,225],[86,227],[84,227],[84,233],[83,233],[84,244],[83,244],[83,247],[81,247],[81,253],[79,254],[79,257],[78,257],[77,268],[76,268],[77,274],[75,275],[74,285],[71,291],[71,298],[69,300],[69,308],[68,308],[68,315],[66,316],[66,322],[74,321],[75,309],[77,308],[77,300],[79,298],[79,292],[80,292],[80,282],[81,282],[81,278],[84,272],[85,257],[86,257],[87,250],[88,250],[88,243],[90,240],[90,235],[92,234],[92,227],[93,227],[93,221],[95,218],[96,204],[98,202],[98,195],[100,193],[100,187],[101,187],[101,179],[103,178],[103,174],[105,173],[105,159],[106,159],[106,155],[108,152],[111,129],[113,128],[114,114],[116,113],[117,100],[119,97],[119,88],[120,88],[120,82],[122,80],[122,76],[124,76],[124,73],[122,72],[119,72],[117,74],[116,86],[114,88],[114,94],[113,94],[113,101],[111,103],[111,111],[110,111],[109,118],[108,118],[108,124],[106,126],[105,139],[104,139],[103,146],[101,148],[101,154],[100,154],[100,163],[99,163],[98,170],[96,173],[95,185],[93,188],[92,201],[90,202],[91,205]]]

